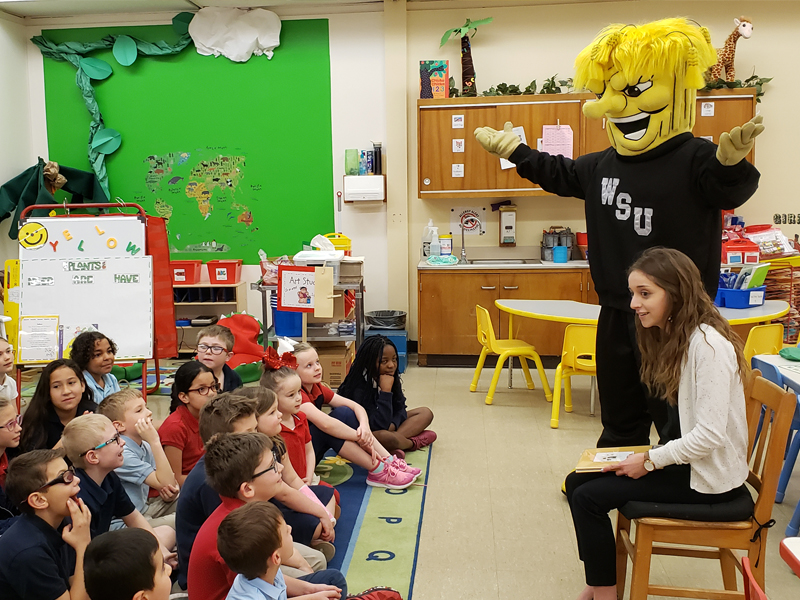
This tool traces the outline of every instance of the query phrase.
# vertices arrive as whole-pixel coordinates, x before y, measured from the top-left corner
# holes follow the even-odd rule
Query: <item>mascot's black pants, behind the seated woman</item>
[[[680,437],[677,410],[647,393],[639,376],[636,315],[603,306],[597,322],[597,390],[603,433],[598,448],[650,443],[656,424],[661,443]]]

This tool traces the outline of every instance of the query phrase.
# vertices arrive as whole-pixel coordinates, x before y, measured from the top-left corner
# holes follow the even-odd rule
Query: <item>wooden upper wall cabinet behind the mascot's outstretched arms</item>
[[[544,195],[538,186],[502,169],[500,160],[475,140],[477,127],[502,129],[506,121],[525,131],[535,148],[544,125],[569,125],[573,157],[609,147],[605,119],[587,119],[583,104],[594,94],[446,98],[417,101],[418,191],[420,198],[494,198]],[[705,105],[705,108],[703,107]],[[706,116],[703,116],[706,115]],[[755,115],[755,90],[698,93],[694,135],[719,142],[723,131]],[[753,152],[748,155],[753,161]]]

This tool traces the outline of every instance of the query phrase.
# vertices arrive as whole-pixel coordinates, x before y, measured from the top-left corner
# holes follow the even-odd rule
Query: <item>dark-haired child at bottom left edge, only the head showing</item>
[[[169,600],[172,568],[142,529],[109,531],[86,548],[83,578],[91,600]]]

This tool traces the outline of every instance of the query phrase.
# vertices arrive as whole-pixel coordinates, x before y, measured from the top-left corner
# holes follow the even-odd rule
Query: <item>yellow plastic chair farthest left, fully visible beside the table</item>
[[[475,367],[475,376],[472,378],[472,384],[469,386],[469,391],[474,392],[478,387],[478,379],[480,379],[481,371],[483,370],[483,363],[486,356],[491,352],[498,354],[497,366],[492,375],[492,383],[489,385],[489,393],[486,394],[486,404],[491,404],[494,399],[494,390],[497,387],[497,381],[500,379],[500,373],[503,371],[503,365],[507,359],[512,359],[515,356],[519,357],[519,362],[522,365],[522,372],[525,374],[525,381],[528,384],[528,389],[535,388],[533,379],[531,378],[530,369],[528,369],[528,362],[526,359],[531,359],[536,363],[536,369],[539,371],[539,377],[542,380],[542,387],[544,388],[544,395],[547,401],[552,400],[552,393],[550,386],[547,384],[547,376],[544,374],[544,367],[542,366],[542,359],[536,349],[522,340],[498,340],[494,337],[494,327],[492,326],[492,317],[489,311],[480,305],[475,306],[475,314],[478,317],[478,341],[483,346],[481,356],[478,359],[478,365]]]

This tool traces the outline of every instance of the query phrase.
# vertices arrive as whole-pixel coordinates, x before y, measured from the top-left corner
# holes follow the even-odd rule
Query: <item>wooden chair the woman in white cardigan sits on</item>
[[[628,556],[633,562],[630,600],[645,600],[648,595],[678,596],[681,598],[744,598],[737,591],[736,571],[742,571],[739,556],[734,550],[744,550],[753,565],[756,583],[764,587],[764,562],[766,560],[767,531],[774,524],[772,506],[786,447],[786,436],[794,415],[794,394],[782,390],[752,371],[745,385],[747,402],[748,449],[750,449],[750,474],[747,483],[755,489],[757,497],[752,516],[743,520],[695,520],[697,514],[741,513],[736,507],[714,505],[654,505],[629,502],[619,511],[617,518],[617,596],[620,600],[625,589],[625,572]],[[763,426],[756,439],[761,407],[766,407]],[[749,506],[752,500],[746,498]],[[658,507],[654,510],[655,507]],[[685,512],[682,519],[644,516],[664,514],[669,509]],[[747,508],[749,512],[749,508]],[[667,509],[667,511],[665,511]],[[664,512],[662,512],[664,511]],[[639,513],[637,515],[637,513]],[[644,514],[642,514],[644,513]],[[744,513],[748,514],[748,513]],[[702,517],[701,517],[702,518]],[[631,538],[631,522],[636,524],[635,539]],[[755,541],[751,541],[755,540]],[[670,546],[656,545],[656,542]],[[684,546],[684,547],[680,547]],[[685,546],[700,546],[687,548]],[[720,561],[725,590],[698,590],[684,587],[650,585],[650,560],[652,554],[712,558]]]

